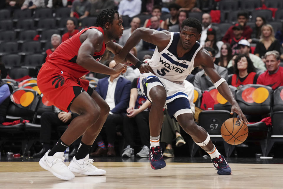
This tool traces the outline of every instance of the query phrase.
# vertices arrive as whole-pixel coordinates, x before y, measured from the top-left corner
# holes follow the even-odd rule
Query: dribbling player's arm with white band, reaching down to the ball
[[[246,116],[243,114],[240,106],[238,105],[238,102],[236,101],[233,93],[231,92],[229,85],[224,79],[221,79],[221,76],[214,68],[214,63],[209,53],[205,49],[201,49],[197,57],[195,58],[195,62],[200,63],[205,73],[210,77],[211,81],[217,87],[219,93],[232,104],[231,114],[237,113],[241,121],[243,120],[246,124],[249,124]],[[200,66],[200,65],[195,65],[195,66]]]

